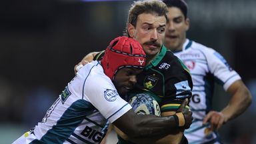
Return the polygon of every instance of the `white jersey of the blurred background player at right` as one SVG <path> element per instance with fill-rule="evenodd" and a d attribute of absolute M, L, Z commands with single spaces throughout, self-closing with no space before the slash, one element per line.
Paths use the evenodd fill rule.
<path fill-rule="evenodd" d="M 189 105 L 194 120 L 190 128 L 185 130 L 185 136 L 190 144 L 215 143 L 219 139 L 217 133 L 209 133 L 209 123 L 202 125 L 203 118 L 211 110 L 214 83 L 223 85 L 226 91 L 241 77 L 217 51 L 195 41 L 186 39 L 182 51 L 174 54 L 189 68 L 193 81 Z"/>

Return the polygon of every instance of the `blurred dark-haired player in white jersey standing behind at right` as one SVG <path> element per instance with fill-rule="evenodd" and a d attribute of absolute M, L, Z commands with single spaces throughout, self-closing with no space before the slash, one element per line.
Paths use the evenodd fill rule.
<path fill-rule="evenodd" d="M 217 130 L 249 107 L 251 94 L 241 77 L 217 51 L 186 39 L 189 19 L 185 1 L 163 2 L 169 10 L 165 46 L 183 60 L 193 79 L 190 107 L 195 119 L 185 136 L 189 143 L 220 143 Z M 227 107 L 220 112 L 211 109 L 215 82 L 232 95 Z"/>

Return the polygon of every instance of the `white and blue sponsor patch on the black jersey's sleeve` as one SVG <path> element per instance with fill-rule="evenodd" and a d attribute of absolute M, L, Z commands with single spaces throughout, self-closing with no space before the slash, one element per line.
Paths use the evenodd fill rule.
<path fill-rule="evenodd" d="M 189 93 L 191 93 L 191 88 L 189 87 L 188 81 L 181 81 L 179 83 L 175 83 L 174 85 L 176 88 L 177 98 L 181 99 L 190 96 Z"/>

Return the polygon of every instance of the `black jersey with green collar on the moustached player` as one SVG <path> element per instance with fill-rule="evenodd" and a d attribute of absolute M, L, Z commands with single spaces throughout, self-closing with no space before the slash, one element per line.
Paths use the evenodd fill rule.
<path fill-rule="evenodd" d="M 190 98 L 193 83 L 189 69 L 163 46 L 159 54 L 137 76 L 133 93 L 151 93 L 161 112 L 176 111 L 181 99 Z"/>

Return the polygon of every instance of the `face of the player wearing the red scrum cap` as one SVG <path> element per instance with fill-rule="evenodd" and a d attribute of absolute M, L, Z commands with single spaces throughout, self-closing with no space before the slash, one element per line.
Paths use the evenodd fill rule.
<path fill-rule="evenodd" d="M 136 76 L 142 71 L 142 69 L 133 67 L 124 67 L 117 71 L 113 83 L 121 97 L 124 97 L 128 91 L 133 89 L 135 83 L 137 83 Z"/>

